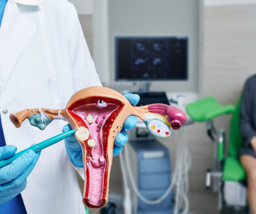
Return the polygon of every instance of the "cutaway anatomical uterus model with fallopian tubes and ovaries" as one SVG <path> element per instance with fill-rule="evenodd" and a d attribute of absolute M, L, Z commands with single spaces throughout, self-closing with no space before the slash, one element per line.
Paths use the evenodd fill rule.
<path fill-rule="evenodd" d="M 186 121 L 185 113 L 177 108 L 165 104 L 132 106 L 122 94 L 100 86 L 81 89 L 63 110 L 27 109 L 11 114 L 10 119 L 17 128 L 29 119 L 40 129 L 53 119 L 68 121 L 77 130 L 75 137 L 83 150 L 83 202 L 89 208 L 101 208 L 108 201 L 114 139 L 130 115 L 140 117 L 151 134 L 159 137 L 170 136 L 170 127 L 177 130 Z"/>

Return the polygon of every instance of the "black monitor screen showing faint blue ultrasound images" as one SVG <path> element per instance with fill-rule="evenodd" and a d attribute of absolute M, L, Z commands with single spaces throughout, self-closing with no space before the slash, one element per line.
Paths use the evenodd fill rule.
<path fill-rule="evenodd" d="M 116 37 L 116 80 L 187 80 L 187 37 Z"/>

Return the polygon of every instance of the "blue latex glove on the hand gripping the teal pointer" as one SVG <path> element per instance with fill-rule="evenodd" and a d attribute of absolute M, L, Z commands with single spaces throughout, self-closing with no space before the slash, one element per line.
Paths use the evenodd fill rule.
<path fill-rule="evenodd" d="M 0 160 L 12 157 L 17 148 L 12 145 L 0 147 Z M 26 188 L 27 176 L 31 173 L 40 156 L 28 150 L 9 165 L 0 169 L 0 204 L 11 200 Z"/>

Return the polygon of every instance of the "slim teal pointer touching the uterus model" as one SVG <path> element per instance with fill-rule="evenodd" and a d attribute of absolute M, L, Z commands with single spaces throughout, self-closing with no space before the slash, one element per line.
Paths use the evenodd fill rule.
<path fill-rule="evenodd" d="M 12 161 L 14 161 L 16 158 L 18 158 L 19 156 L 21 156 L 21 154 L 23 154 L 24 152 L 26 152 L 27 150 L 31 149 L 34 152 L 40 152 L 40 150 L 43 150 L 55 143 L 58 143 L 59 141 L 61 141 L 62 139 L 65 139 L 68 136 L 71 136 L 71 134 L 74 134 L 76 132 L 75 129 L 70 130 L 68 132 L 63 132 L 61 134 L 58 134 L 57 136 L 51 137 L 49 139 L 46 139 L 45 141 L 42 141 L 41 143 L 38 143 L 36 145 L 32 145 L 31 147 L 24 149 L 16 154 L 14 154 L 14 156 L 12 156 L 11 158 L 8 158 L 6 160 L 1 160 L 0 161 L 0 168 L 4 167 L 8 164 L 10 164 Z"/>

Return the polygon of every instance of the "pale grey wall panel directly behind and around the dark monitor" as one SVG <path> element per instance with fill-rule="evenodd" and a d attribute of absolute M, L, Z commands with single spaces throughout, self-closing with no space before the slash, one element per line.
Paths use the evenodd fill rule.
<path fill-rule="evenodd" d="M 188 36 L 188 80 L 155 81 L 151 90 L 191 93 L 200 90 L 202 1 L 94 0 L 94 3 L 94 62 L 106 86 L 119 91 L 134 90 L 133 82 L 115 81 L 115 36 Z"/>

